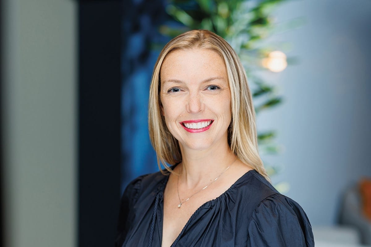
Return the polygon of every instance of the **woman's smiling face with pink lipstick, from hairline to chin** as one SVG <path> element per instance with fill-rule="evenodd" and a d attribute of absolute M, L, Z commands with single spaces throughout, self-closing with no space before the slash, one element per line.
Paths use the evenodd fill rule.
<path fill-rule="evenodd" d="M 226 66 L 207 49 L 175 50 L 160 70 L 161 112 L 181 148 L 228 145 L 232 119 Z"/>

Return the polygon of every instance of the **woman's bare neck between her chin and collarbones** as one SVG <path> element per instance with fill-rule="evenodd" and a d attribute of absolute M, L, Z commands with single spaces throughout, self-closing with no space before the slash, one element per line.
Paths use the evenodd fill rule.
<path fill-rule="evenodd" d="M 228 144 L 203 151 L 185 149 L 182 146 L 180 149 L 183 160 L 178 172 L 189 188 L 214 180 L 236 160 Z"/>

